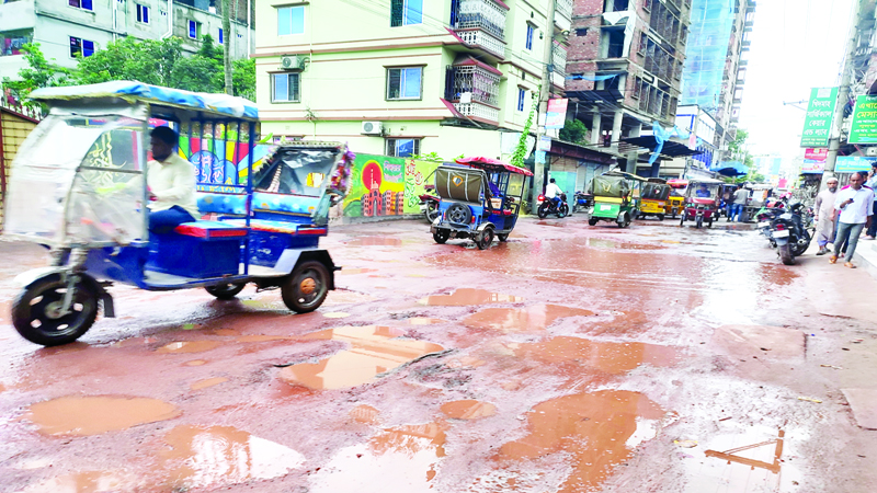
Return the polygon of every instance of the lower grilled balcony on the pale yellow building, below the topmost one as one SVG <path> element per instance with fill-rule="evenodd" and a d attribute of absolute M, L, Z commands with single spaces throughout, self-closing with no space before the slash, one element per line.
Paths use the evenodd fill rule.
<path fill-rule="evenodd" d="M 445 100 L 462 115 L 499 123 L 502 72 L 471 57 L 447 67 Z"/>

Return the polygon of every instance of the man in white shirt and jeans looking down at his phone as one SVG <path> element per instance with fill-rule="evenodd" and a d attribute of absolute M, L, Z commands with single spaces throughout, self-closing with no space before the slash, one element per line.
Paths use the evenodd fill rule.
<path fill-rule="evenodd" d="M 844 186 L 838 192 L 834 199 L 834 208 L 841 210 L 838 226 L 838 238 L 834 242 L 834 254 L 829 260 L 830 263 L 838 262 L 841 253 L 841 245 L 844 241 L 850 241 L 846 253 L 845 266 L 856 268 L 853 265 L 853 255 L 856 253 L 856 243 L 862 229 L 870 226 L 874 216 L 874 191 L 864 186 L 866 174 L 857 171 L 850 176 L 850 185 Z"/>

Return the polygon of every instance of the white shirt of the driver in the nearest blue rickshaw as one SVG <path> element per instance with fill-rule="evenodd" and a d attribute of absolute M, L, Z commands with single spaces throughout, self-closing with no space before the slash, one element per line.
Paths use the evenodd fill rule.
<path fill-rule="evenodd" d="M 153 213 L 167 210 L 179 205 L 193 217 L 198 217 L 198 206 L 195 200 L 195 167 L 172 153 L 164 161 L 151 160 L 147 163 L 146 183 L 156 200 L 149 203 Z"/>

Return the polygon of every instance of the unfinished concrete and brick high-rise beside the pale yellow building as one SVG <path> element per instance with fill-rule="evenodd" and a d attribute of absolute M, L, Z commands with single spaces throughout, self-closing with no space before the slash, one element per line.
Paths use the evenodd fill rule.
<path fill-rule="evenodd" d="M 590 142 L 626 158 L 625 138 L 654 122 L 672 126 L 682 80 L 691 0 L 576 0 L 566 93 Z M 648 174 L 648 172 L 646 172 Z"/>

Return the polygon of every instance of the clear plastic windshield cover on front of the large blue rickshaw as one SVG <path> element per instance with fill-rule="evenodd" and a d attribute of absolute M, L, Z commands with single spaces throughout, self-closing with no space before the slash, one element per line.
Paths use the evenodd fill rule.
<path fill-rule="evenodd" d="M 141 124 L 50 114 L 12 163 L 5 232 L 50 245 L 144 238 Z"/>

